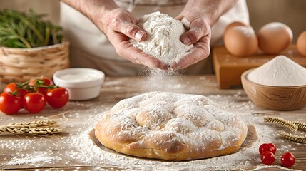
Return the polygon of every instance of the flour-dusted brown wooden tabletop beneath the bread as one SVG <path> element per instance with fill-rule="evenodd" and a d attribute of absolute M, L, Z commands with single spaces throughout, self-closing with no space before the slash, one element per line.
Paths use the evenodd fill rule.
<path fill-rule="evenodd" d="M 173 91 L 177 93 L 193 93 L 206 95 L 208 98 L 220 103 L 225 109 L 233 113 L 242 115 L 248 124 L 248 136 L 243 144 L 243 149 L 248 146 L 258 146 L 262 140 L 275 143 L 279 147 L 276 153 L 275 165 L 280 164 L 280 156 L 286 150 L 292 152 L 296 157 L 295 166 L 293 169 L 306 170 L 306 145 L 298 144 L 284 140 L 277 135 L 277 131 L 284 129 L 275 124 L 263 122 L 265 115 L 282 117 L 287 120 L 306 120 L 306 110 L 297 111 L 270 111 L 262 108 L 257 108 L 250 102 L 242 89 L 220 90 L 218 88 L 215 76 L 181 76 L 172 78 L 146 78 L 146 77 L 128 77 L 128 78 L 106 78 L 102 88 L 101 94 L 98 98 L 87 101 L 71 101 L 64 108 L 54 110 L 47 106 L 43 112 L 38 114 L 27 114 L 25 112 L 18 115 L 4 115 L 0 114 L 0 125 L 8 123 L 25 122 L 31 120 L 56 120 L 61 127 L 66 131 L 63 135 L 52 135 L 44 137 L 34 137 L 25 135 L 0 135 L 0 170 L 158 170 L 158 165 L 155 168 L 146 168 L 138 166 L 133 168 L 133 162 L 129 165 L 108 165 L 106 163 L 83 163 L 76 160 L 70 160 L 67 154 L 73 150 L 79 152 L 78 148 L 71 148 L 66 141 L 68 138 L 80 135 L 84 130 L 93 128 L 94 124 L 91 122 L 98 113 L 108 110 L 119 100 L 129 98 L 139 93 L 145 93 L 151 90 Z M 251 118 L 251 119 L 249 119 Z M 264 130 L 262 130 L 264 129 Z M 258 131 L 266 134 L 259 134 Z M 256 133 L 258 132 L 258 133 Z M 275 133 L 274 133 L 275 132 Z M 269 135 L 272 133 L 271 135 Z M 305 133 L 305 132 L 303 132 Z M 260 143 L 259 143 L 260 142 Z M 260 155 L 257 152 L 257 146 L 253 147 L 255 150 L 250 150 L 248 157 L 233 162 L 225 162 L 225 165 L 219 166 L 218 160 L 215 167 L 206 167 L 203 165 L 201 170 L 282 170 L 281 167 L 275 166 L 266 168 L 260 161 Z M 247 149 L 248 150 L 248 149 Z M 233 156 L 240 154 L 240 151 Z M 49 158 L 48 158 L 49 157 Z M 126 157 L 126 160 L 133 160 L 134 157 Z M 230 159 L 229 155 L 227 159 Z M 50 161 L 52 159 L 52 161 Z M 113 162 L 116 163 L 116 159 Z M 144 160 L 144 159 L 138 159 Z M 152 160 L 155 161 L 155 160 Z M 147 160 L 149 163 L 150 160 Z M 173 165 L 172 170 L 198 170 L 193 167 L 193 163 L 201 163 L 205 160 L 196 160 L 188 162 L 164 162 L 158 161 L 160 165 Z M 126 162 L 128 163 L 128 162 Z M 181 167 L 180 165 L 188 165 L 188 167 Z M 240 167 L 238 167 L 241 165 Z M 177 166 L 177 167 L 175 167 Z M 258 167 L 259 166 L 259 167 Z M 141 168 L 141 169 L 140 169 Z"/>

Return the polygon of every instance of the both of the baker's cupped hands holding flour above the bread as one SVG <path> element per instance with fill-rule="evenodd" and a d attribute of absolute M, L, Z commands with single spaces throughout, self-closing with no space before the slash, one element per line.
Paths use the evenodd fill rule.
<path fill-rule="evenodd" d="M 113 9 L 103 21 L 99 22 L 98 27 L 106 34 L 108 40 L 113 44 L 119 56 L 127 58 L 132 63 L 142 64 L 149 68 L 160 68 L 162 70 L 182 69 L 197 63 L 209 56 L 210 53 L 210 23 L 201 11 L 182 11 L 175 19 L 187 19 L 190 22 L 188 31 L 180 36 L 186 46 L 193 44 L 187 56 L 183 57 L 178 63 L 173 62 L 170 66 L 138 48 L 134 48 L 129 39 L 136 41 L 146 40 L 146 31 L 136 25 L 137 19 L 124 9 Z"/>

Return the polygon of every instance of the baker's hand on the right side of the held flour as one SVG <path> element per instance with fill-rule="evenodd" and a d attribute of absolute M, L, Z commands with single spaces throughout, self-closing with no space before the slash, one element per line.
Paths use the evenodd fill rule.
<path fill-rule="evenodd" d="M 190 53 L 187 56 L 171 63 L 170 68 L 173 69 L 187 68 L 207 58 L 210 54 L 210 21 L 204 14 L 203 9 L 184 10 L 175 17 L 175 19 L 181 21 L 184 18 L 190 22 L 190 28 L 180 36 L 180 41 L 186 46 L 193 44 L 193 48 L 190 49 Z"/>

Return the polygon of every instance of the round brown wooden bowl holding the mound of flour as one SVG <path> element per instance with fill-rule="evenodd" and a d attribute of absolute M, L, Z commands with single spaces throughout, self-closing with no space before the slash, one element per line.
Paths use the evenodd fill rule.
<path fill-rule="evenodd" d="M 299 110 L 306 105 L 306 85 L 265 86 L 248 81 L 250 69 L 241 75 L 243 89 L 255 105 L 269 110 Z"/>

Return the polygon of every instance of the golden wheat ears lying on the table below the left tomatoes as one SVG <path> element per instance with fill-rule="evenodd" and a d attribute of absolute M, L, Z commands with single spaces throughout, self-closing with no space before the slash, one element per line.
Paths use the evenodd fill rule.
<path fill-rule="evenodd" d="M 34 120 L 24 123 L 10 123 L 0 126 L 0 134 L 31 134 L 31 135 L 53 135 L 63 133 L 63 130 L 53 120 Z"/>

